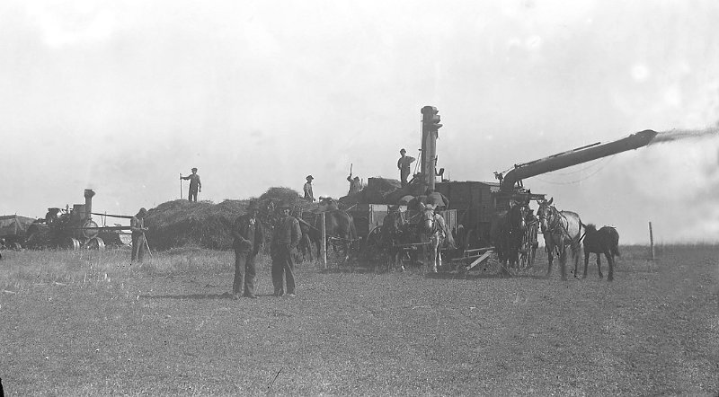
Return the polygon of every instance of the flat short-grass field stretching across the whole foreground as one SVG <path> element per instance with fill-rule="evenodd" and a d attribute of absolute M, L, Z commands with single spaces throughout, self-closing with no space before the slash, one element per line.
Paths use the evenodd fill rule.
<path fill-rule="evenodd" d="M 621 247 L 615 281 L 297 269 L 233 254 L 4 251 L 7 395 L 717 395 L 719 247 Z M 537 276 L 546 257 L 537 258 Z M 606 263 L 605 263 L 606 266 Z M 603 270 L 605 276 L 607 270 Z"/>

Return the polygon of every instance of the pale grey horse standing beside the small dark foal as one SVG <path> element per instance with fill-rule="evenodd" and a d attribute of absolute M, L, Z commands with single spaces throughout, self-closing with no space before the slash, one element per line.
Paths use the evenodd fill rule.
<path fill-rule="evenodd" d="M 559 254 L 559 263 L 562 266 L 562 279 L 566 280 L 567 246 L 572 250 L 574 261 L 574 277 L 577 277 L 577 266 L 579 265 L 579 251 L 581 250 L 581 219 L 577 213 L 572 211 L 559 211 L 552 202 L 541 201 L 537 209 L 539 223 L 542 227 L 542 234 L 545 236 L 545 248 L 549 265 L 546 269 L 546 277 L 552 271 L 552 260 L 555 253 Z"/>

